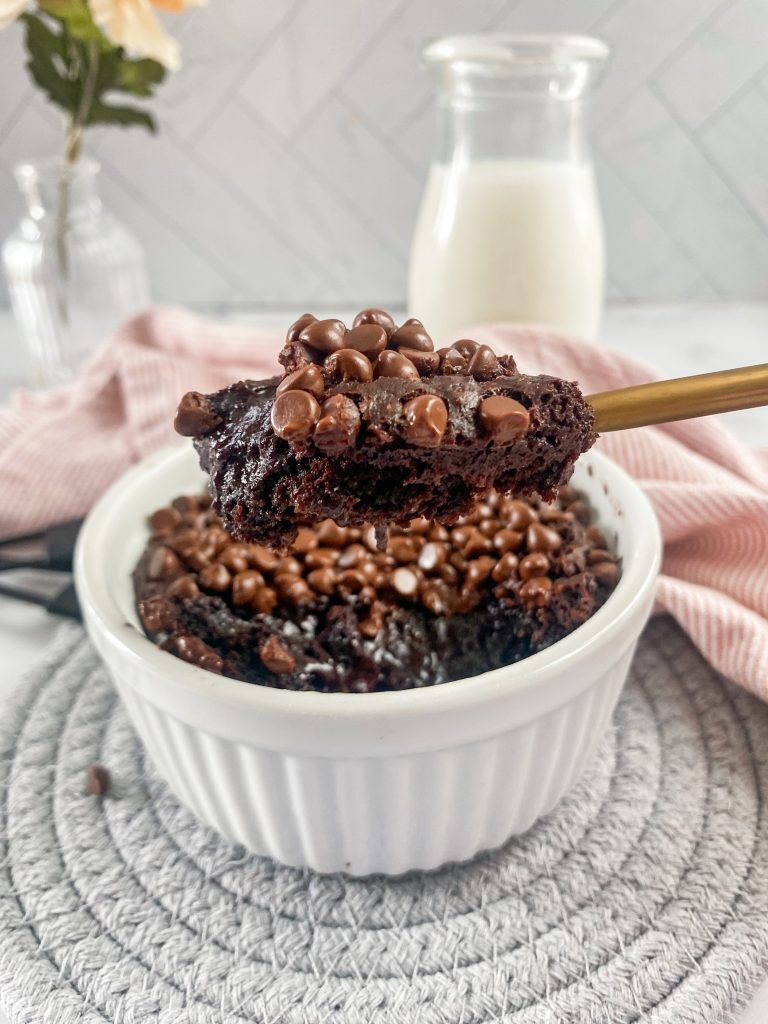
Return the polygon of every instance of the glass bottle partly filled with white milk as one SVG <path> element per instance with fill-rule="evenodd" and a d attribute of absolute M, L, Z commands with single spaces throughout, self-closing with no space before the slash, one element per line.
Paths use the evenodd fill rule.
<path fill-rule="evenodd" d="M 513 321 L 595 339 L 603 231 L 585 129 L 608 56 L 582 36 L 457 36 L 424 51 L 438 138 L 409 307 L 437 339 Z"/>

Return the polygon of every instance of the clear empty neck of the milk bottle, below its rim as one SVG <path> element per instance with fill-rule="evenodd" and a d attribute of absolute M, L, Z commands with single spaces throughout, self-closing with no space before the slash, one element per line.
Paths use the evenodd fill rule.
<path fill-rule="evenodd" d="M 591 160 L 583 96 L 476 96 L 442 92 L 437 103 L 437 160 Z"/>

